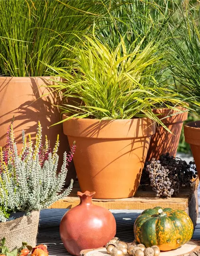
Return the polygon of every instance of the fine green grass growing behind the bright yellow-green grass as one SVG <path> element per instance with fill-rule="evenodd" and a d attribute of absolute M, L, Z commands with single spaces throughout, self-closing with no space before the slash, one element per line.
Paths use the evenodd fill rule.
<path fill-rule="evenodd" d="M 166 29 L 168 29 L 169 22 L 178 18 L 176 14 L 181 1 L 130 0 L 127 3 L 122 0 L 120 2 L 124 3 L 116 9 L 108 10 L 103 19 L 96 21 L 97 37 L 110 47 L 116 47 L 121 38 L 124 38 L 126 49 L 129 51 L 133 50 L 131 49 L 132 42 L 143 38 L 142 48 L 149 43 L 156 44 L 158 54 L 164 56 Z M 154 72 L 154 78 L 163 88 L 168 88 L 173 82 L 167 66 L 164 65 Z M 160 102 L 157 106 L 163 107 L 164 105 Z"/>

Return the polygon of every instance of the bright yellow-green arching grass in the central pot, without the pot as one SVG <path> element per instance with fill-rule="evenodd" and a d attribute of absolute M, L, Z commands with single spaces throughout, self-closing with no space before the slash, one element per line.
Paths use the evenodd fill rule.
<path fill-rule="evenodd" d="M 144 48 L 145 37 L 126 50 L 124 38 L 116 48 L 93 36 L 85 36 L 75 46 L 63 46 L 77 56 L 66 58 L 65 68 L 52 68 L 65 79 L 52 87 L 62 91 L 63 113 L 77 118 L 131 119 L 148 117 L 159 123 L 152 108 L 182 105 L 178 95 L 159 86 L 156 76 L 164 60 L 158 44 Z"/>

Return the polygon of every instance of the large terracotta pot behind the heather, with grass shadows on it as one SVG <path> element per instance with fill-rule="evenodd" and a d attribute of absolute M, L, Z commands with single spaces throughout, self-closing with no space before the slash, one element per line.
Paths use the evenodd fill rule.
<path fill-rule="evenodd" d="M 56 142 L 57 134 L 60 135 L 60 164 L 62 155 L 68 149 L 68 141 L 62 131 L 62 124 L 49 127 L 60 121 L 60 111 L 54 105 L 58 105 L 60 99 L 52 91 L 48 84 L 52 84 L 50 77 L 3 77 L 0 76 L 0 146 L 6 146 L 6 134 L 8 126 L 15 116 L 14 133 L 18 150 L 22 147 L 22 130 L 35 138 L 35 133 L 40 120 L 43 134 L 51 140 L 52 147 Z M 43 94 L 48 94 L 40 98 Z M 53 105 L 54 104 L 54 105 Z M 45 139 L 45 136 L 44 138 Z M 71 175 L 70 175 L 71 174 Z M 67 183 L 76 174 L 73 168 L 68 172 Z"/>

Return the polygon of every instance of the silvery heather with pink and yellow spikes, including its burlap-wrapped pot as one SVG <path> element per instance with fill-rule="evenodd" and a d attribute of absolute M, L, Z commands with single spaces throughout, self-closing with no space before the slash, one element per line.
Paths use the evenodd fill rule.
<path fill-rule="evenodd" d="M 64 153 L 62 168 L 57 172 L 58 138 L 53 150 L 47 137 L 42 145 L 39 122 L 35 144 L 30 135 L 27 138 L 22 132 L 23 148 L 18 154 L 13 123 L 8 128 L 7 146 L 0 147 L 0 240 L 5 237 L 10 250 L 19 248 L 22 241 L 34 247 L 40 210 L 72 190 L 73 180 L 66 190 L 62 188 L 75 146 L 70 154 Z"/>

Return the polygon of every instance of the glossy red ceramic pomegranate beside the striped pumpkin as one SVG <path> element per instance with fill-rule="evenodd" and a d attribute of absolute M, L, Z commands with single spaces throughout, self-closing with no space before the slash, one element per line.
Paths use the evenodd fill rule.
<path fill-rule="evenodd" d="M 80 204 L 66 212 L 60 222 L 62 242 L 72 255 L 102 247 L 116 234 L 114 216 L 106 208 L 92 204 L 94 194 L 77 192 Z"/>

